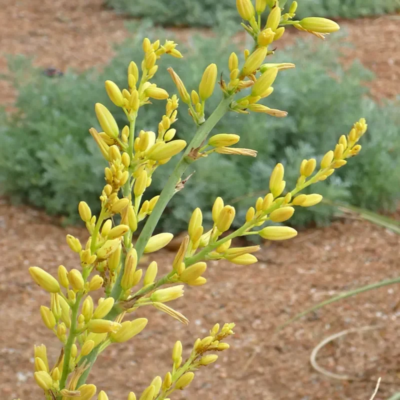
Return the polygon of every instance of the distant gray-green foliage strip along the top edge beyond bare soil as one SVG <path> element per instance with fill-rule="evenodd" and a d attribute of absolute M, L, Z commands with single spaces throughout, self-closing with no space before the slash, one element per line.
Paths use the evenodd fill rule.
<path fill-rule="evenodd" d="M 165 26 L 214 26 L 224 20 L 240 20 L 234 0 L 106 0 L 106 4 L 119 12 L 148 17 Z M 297 17 L 356 18 L 398 9 L 398 0 L 299 0 Z"/>

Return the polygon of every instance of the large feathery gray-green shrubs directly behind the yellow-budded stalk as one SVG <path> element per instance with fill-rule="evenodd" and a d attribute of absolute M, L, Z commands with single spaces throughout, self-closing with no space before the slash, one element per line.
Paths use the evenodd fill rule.
<path fill-rule="evenodd" d="M 103 82 L 111 79 L 124 87 L 128 62 L 131 58 L 140 62 L 142 37 L 139 31 L 124 43 L 101 72 L 68 71 L 63 77 L 51 79 L 23 58 L 12 60 L 10 69 L 14 71 L 19 93 L 16 101 L 19 111 L 0 116 L 3 191 L 50 213 L 65 214 L 70 220 L 77 217 L 80 200 L 86 200 L 93 211 L 98 209 L 104 161 L 87 129 L 99 128 L 93 110 L 95 102 L 104 103 L 115 112 L 120 128 L 126 123 L 123 113 L 107 98 Z M 167 66 L 174 68 L 189 90 L 197 88 L 202 71 L 210 62 L 216 62 L 218 71 L 227 76 L 227 58 L 235 49 L 227 36 L 226 39 L 221 35 L 218 39 L 192 38 L 189 42 L 190 48 L 180 48 L 187 57 L 161 60 L 156 83 L 170 94 L 176 90 L 165 70 Z M 311 186 L 309 192 L 369 209 L 395 204 L 400 195 L 399 120 L 394 104 L 378 105 L 367 96 L 361 82 L 371 74 L 358 63 L 344 72 L 336 61 L 337 49 L 328 42 L 321 42 L 315 49 L 306 41 L 297 41 L 271 60 L 296 64 L 295 69 L 279 72 L 274 92 L 265 100 L 268 106 L 287 110 L 289 116 L 226 115 L 213 133 L 240 134 L 239 145 L 258 150 L 258 156 L 212 154 L 196 161 L 191 169 L 194 174 L 173 197 L 159 228 L 168 231 L 184 228 L 196 206 L 206 211 L 218 195 L 226 202 L 244 196 L 234 204 L 240 210 L 239 219 L 244 217 L 246 206 L 254 202 L 254 196 L 245 196 L 267 190 L 269 174 L 276 162 L 284 164 L 286 187 L 292 187 L 301 160 L 311 156 L 320 159 L 361 116 L 368 122 L 361 153 L 331 178 Z M 214 108 L 220 96 L 219 90 L 215 90 L 207 101 L 208 110 Z M 164 106 L 164 101 L 154 100 L 153 105 L 144 107 L 139 113 L 137 129 L 156 131 Z M 189 140 L 194 125 L 183 103 L 178 118 L 177 137 Z M 172 159 L 157 169 L 148 196 L 159 194 L 175 162 Z M 329 207 L 320 205 L 299 210 L 292 222 L 325 223 L 330 216 Z M 205 219 L 210 220 L 209 213 L 205 212 Z"/>

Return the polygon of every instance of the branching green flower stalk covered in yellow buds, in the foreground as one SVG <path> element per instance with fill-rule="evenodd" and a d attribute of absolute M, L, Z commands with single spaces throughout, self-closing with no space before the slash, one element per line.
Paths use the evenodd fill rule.
<path fill-rule="evenodd" d="M 48 364 L 44 344 L 34 348 L 34 378 L 43 389 L 46 400 L 93 398 L 97 389 L 86 383 L 93 363 L 108 346 L 127 342 L 146 327 L 146 318 L 135 317 L 139 307 L 154 307 L 167 317 L 187 324 L 187 318 L 169 304 L 183 295 L 185 285 L 206 283 L 207 261 L 226 259 L 238 265 L 256 262 L 254 253 L 259 246 L 235 247 L 232 239 L 238 236 L 259 235 L 267 240 L 285 240 L 295 236 L 296 230 L 289 226 L 262 226 L 267 221 L 284 222 L 293 215 L 295 207 L 308 207 L 321 201 L 321 195 L 302 194 L 301 190 L 326 179 L 359 152 L 358 140 L 366 130 L 362 118 L 347 136 L 340 136 L 334 150 L 324 155 L 318 167 L 313 158 L 301 162 L 295 187 L 285 187 L 283 166 L 278 163 L 270 176 L 269 192 L 248 208 L 238 229 L 230 229 L 235 208 L 224 204 L 220 197 L 215 199 L 211 210 L 212 226 L 204 227 L 202 211 L 194 209 L 188 223 L 188 234 L 182 239 L 169 272 L 159 275 L 157 262 L 151 260 L 151 253 L 167 245 L 173 235 L 169 232 L 153 235 L 153 231 L 171 197 L 184 190 L 188 177 L 182 179 L 182 176 L 186 168 L 197 159 L 213 156 L 215 152 L 225 156 L 255 157 L 257 154 L 254 149 L 236 146 L 240 139 L 238 134 L 215 132 L 209 135 L 215 124 L 229 111 L 261 112 L 274 117 L 287 114 L 259 102 L 273 93 L 272 85 L 277 75 L 294 67 L 290 62 L 265 62 L 265 58 L 274 53 L 271 49 L 274 41 L 282 36 L 286 25 L 294 25 L 318 37 L 339 28 L 335 22 L 325 18 L 293 20 L 296 1 L 291 3 L 288 12 L 284 12 L 284 3 L 284 0 L 279 3 L 256 0 L 254 7 L 250 0 L 236 0 L 237 10 L 244 20 L 242 26 L 254 39 L 254 46 L 252 50 L 244 51 L 242 64 L 235 53 L 230 54 L 226 60 L 228 74 L 218 72 L 212 63 L 205 68 L 197 90 L 189 88 L 189 93 L 176 72 L 168 68 L 180 100 L 187 105 L 196 125 L 188 144 L 174 139 L 179 105 L 177 95 L 169 95 L 151 82 L 160 57 L 182 57 L 176 43 L 167 40 L 161 44 L 159 40 L 150 42 L 145 38 L 141 63 L 137 65 L 131 61 L 127 67 L 126 87 L 121 89 L 110 80 L 105 82 L 110 100 L 122 108 L 127 124 L 118 126 L 105 105 L 95 104 L 94 111 L 102 131 L 94 128 L 89 131 L 108 166 L 104 170 L 105 184 L 99 196 L 99 215 L 92 215 L 84 201 L 78 205 L 79 215 L 89 232 L 88 240 L 80 243 L 77 238 L 66 236 L 80 267 L 67 270 L 60 265 L 57 277 L 37 266 L 29 268 L 33 280 L 50 295 L 50 306 L 40 307 L 42 320 L 61 342 L 59 356 L 53 365 Z M 267 17 L 262 22 L 266 11 Z M 224 80 L 223 76 L 228 78 Z M 210 113 L 206 107 L 207 99 L 215 91 L 217 78 L 221 101 Z M 165 114 L 160 117 L 157 132 L 141 129 L 137 120 L 139 112 L 153 100 L 165 101 Z M 181 151 L 183 154 L 161 193 L 143 201 L 153 172 Z M 116 220 L 120 223 L 116 224 Z M 140 222 L 144 222 L 144 226 L 137 241 L 133 242 L 132 235 Z M 150 257 L 144 273 L 137 268 L 143 254 Z M 91 295 L 98 290 L 103 295 L 95 304 Z M 166 399 L 175 390 L 184 389 L 192 381 L 197 368 L 214 362 L 217 358 L 215 352 L 229 347 L 223 340 L 233 333 L 233 326 L 225 324 L 219 329 L 216 324 L 207 337 L 196 340 L 186 360 L 182 358 L 182 345 L 177 341 L 173 347 L 171 370 L 163 379 L 156 376 L 142 392 L 140 400 Z M 135 398 L 133 391 L 127 394 L 128 400 Z M 108 397 L 100 391 L 97 399 L 107 400 Z"/>

